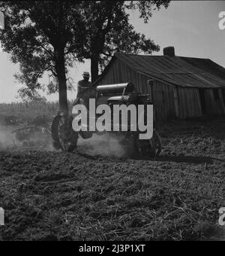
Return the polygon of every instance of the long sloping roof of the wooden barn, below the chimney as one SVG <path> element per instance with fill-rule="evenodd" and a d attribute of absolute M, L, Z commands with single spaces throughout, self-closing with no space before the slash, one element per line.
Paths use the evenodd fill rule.
<path fill-rule="evenodd" d="M 107 73 L 115 59 L 124 62 L 133 71 L 169 84 L 181 87 L 225 88 L 225 69 L 210 59 L 115 53 L 101 77 Z"/>

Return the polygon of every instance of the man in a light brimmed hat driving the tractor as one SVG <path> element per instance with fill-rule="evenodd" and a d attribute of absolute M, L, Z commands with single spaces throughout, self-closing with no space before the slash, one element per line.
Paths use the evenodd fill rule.
<path fill-rule="evenodd" d="M 92 87 L 89 78 L 89 72 L 83 72 L 83 80 L 79 81 L 77 84 L 77 99 L 74 105 L 80 102 L 86 105 L 86 108 L 89 108 L 89 99 L 95 99 L 95 88 Z"/>

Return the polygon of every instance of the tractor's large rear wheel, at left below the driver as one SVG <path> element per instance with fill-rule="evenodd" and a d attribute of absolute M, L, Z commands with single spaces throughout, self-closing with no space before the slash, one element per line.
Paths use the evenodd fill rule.
<path fill-rule="evenodd" d="M 72 118 L 58 115 L 52 122 L 52 140 L 55 149 L 73 152 L 77 148 L 78 133 L 72 129 Z"/>

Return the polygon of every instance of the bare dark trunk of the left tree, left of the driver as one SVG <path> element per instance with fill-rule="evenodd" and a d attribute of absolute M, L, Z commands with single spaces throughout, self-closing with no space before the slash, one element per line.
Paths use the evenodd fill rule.
<path fill-rule="evenodd" d="M 68 114 L 68 88 L 65 74 L 65 55 L 64 49 L 57 50 L 55 58 L 56 74 L 59 87 L 59 110 Z"/>

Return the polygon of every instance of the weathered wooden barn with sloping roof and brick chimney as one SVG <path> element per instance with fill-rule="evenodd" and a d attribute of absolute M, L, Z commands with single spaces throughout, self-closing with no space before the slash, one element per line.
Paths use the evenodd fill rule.
<path fill-rule="evenodd" d="M 210 59 L 115 53 L 95 86 L 132 82 L 139 93 L 151 94 L 154 80 L 155 120 L 225 115 L 225 69 Z"/>

